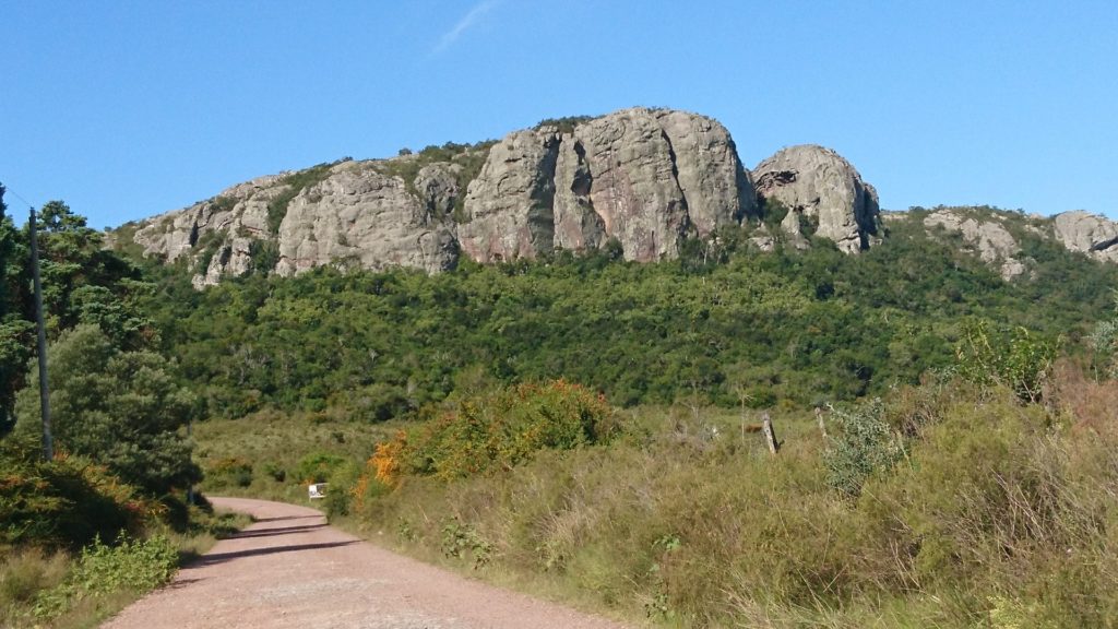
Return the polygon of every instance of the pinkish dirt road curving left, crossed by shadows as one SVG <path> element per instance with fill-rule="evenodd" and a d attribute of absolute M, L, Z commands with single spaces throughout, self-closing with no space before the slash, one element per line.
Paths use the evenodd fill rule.
<path fill-rule="evenodd" d="M 586 628 L 620 625 L 463 579 L 326 526 L 305 507 L 212 498 L 257 522 L 110 629 Z"/>

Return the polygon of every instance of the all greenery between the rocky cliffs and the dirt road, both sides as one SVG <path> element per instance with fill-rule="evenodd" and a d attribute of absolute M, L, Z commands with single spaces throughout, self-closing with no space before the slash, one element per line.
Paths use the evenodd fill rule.
<path fill-rule="evenodd" d="M 653 264 L 606 246 L 199 291 L 190 262 L 106 248 L 51 201 L 44 461 L 30 231 L 8 209 L 0 187 L 11 626 L 165 582 L 236 525 L 205 492 L 314 481 L 341 526 L 643 622 L 1118 622 L 1118 266 L 1020 213 L 968 210 L 1022 243 L 1012 281 L 911 208 L 860 255 L 762 253 L 747 224 Z M 91 571 L 140 576 L 98 592 Z"/>

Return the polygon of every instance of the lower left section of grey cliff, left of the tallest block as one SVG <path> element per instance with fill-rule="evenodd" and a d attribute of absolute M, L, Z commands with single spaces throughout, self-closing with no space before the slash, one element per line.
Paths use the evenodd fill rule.
<path fill-rule="evenodd" d="M 183 255 L 200 257 L 206 266 L 193 278 L 196 288 L 253 270 L 254 242 L 277 247 L 274 271 L 281 275 L 325 264 L 409 266 L 432 273 L 454 266 L 455 166 L 421 169 L 417 197 L 401 178 L 380 173 L 376 163 L 345 161 L 331 167 L 322 181 L 287 201 L 274 234 L 268 206 L 293 191 L 286 173 L 254 179 L 157 216 L 136 231 L 134 241 L 145 255 L 169 262 Z"/>

